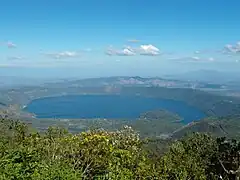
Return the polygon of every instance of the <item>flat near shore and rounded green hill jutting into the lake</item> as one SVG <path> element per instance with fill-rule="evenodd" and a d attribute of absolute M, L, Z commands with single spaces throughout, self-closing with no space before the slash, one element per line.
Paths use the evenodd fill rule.
<path fill-rule="evenodd" d="M 15 118 L 15 117 L 12 117 Z M 121 129 L 124 125 L 131 126 L 141 137 L 162 137 L 178 130 L 184 124 L 182 118 L 166 110 L 154 110 L 140 114 L 137 119 L 34 119 L 22 118 L 40 131 L 49 126 L 60 126 L 71 133 L 87 131 L 91 128 L 103 128 L 108 131 Z"/>

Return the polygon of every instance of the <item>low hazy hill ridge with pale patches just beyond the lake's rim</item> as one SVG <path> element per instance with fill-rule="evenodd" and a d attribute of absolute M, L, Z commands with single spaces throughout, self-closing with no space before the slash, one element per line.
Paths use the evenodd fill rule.
<path fill-rule="evenodd" d="M 202 83 L 196 81 L 184 81 L 175 79 L 164 79 L 159 77 L 143 78 L 139 76 L 117 76 L 117 77 L 102 77 L 89 78 L 80 80 L 64 80 L 55 83 L 46 83 L 45 87 L 54 88 L 76 88 L 76 87 L 120 87 L 120 86 L 134 86 L 134 87 L 168 87 L 168 88 L 210 88 L 223 89 L 223 84 Z"/>

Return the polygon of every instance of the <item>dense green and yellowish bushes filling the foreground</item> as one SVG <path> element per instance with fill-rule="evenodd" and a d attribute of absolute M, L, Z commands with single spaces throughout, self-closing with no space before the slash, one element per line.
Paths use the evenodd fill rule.
<path fill-rule="evenodd" d="M 214 180 L 238 176 L 240 144 L 236 140 L 194 133 L 166 144 L 164 150 L 158 148 L 161 141 L 143 140 L 129 126 L 79 134 L 50 127 L 40 134 L 4 117 L 0 179 Z"/>

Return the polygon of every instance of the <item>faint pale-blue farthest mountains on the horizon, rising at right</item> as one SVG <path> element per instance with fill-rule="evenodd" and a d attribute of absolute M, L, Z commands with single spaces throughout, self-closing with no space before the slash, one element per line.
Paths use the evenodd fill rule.
<path fill-rule="evenodd" d="M 135 82 L 137 81 L 149 81 L 153 79 L 157 80 L 168 80 L 168 81 L 192 81 L 192 82 L 202 82 L 202 83 L 217 83 L 217 84 L 239 84 L 240 83 L 240 73 L 237 72 L 227 72 L 227 71 L 216 71 L 216 70 L 198 70 L 189 71 L 186 73 L 171 73 L 169 75 L 151 78 L 142 78 L 139 76 L 117 76 L 117 77 L 99 77 L 99 78 L 87 78 L 80 79 L 81 82 L 85 81 L 87 83 L 99 83 L 100 81 L 115 81 L 116 79 L 126 79 L 133 78 Z M 43 83 L 57 83 L 57 82 L 70 82 L 78 81 L 79 78 L 32 78 L 32 77 L 18 77 L 18 76 L 0 76 L 0 88 L 2 87 L 16 87 L 16 86 L 32 86 L 40 85 Z"/>

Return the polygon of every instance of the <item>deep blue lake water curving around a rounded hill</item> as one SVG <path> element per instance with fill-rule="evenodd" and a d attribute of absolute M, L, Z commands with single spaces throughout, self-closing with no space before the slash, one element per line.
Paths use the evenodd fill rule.
<path fill-rule="evenodd" d="M 69 95 L 32 101 L 25 110 L 38 118 L 138 118 L 141 113 L 165 109 L 184 118 L 185 123 L 205 114 L 184 102 L 118 95 Z"/>

